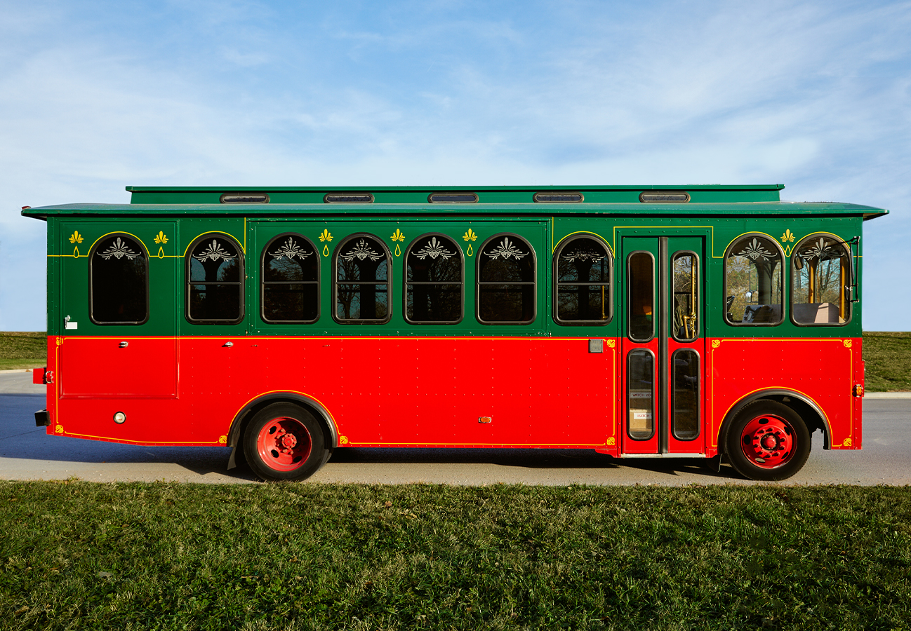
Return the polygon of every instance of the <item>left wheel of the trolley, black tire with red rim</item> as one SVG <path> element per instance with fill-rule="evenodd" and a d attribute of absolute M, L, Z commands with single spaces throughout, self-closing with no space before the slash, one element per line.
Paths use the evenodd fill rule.
<path fill-rule="evenodd" d="M 247 424 L 243 454 L 263 480 L 305 480 L 329 460 L 322 423 L 293 403 L 272 403 Z"/>

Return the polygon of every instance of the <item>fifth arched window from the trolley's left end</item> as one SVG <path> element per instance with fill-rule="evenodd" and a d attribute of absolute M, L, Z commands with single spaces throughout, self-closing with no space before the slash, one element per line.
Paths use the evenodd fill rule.
<path fill-rule="evenodd" d="M 462 250 L 443 235 L 425 235 L 405 254 L 405 319 L 462 320 Z"/>

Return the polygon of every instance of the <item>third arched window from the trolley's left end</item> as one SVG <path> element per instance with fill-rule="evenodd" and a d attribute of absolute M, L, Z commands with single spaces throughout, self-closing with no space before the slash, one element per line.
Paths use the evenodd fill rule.
<path fill-rule="evenodd" d="M 262 319 L 312 322 L 319 316 L 320 257 L 299 234 L 281 235 L 262 249 Z"/>

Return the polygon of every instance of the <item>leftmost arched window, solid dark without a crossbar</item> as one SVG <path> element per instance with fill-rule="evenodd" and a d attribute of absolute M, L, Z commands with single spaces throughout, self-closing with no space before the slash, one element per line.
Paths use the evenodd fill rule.
<path fill-rule="evenodd" d="M 88 255 L 88 267 L 93 322 L 148 321 L 148 256 L 138 239 L 123 233 L 98 239 Z"/>

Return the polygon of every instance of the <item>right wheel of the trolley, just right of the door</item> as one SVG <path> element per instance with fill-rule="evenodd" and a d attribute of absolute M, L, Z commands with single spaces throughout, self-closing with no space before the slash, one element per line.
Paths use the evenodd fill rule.
<path fill-rule="evenodd" d="M 755 401 L 734 417 L 725 439 L 728 460 L 751 480 L 786 480 L 810 457 L 804 419 L 783 403 Z"/>

